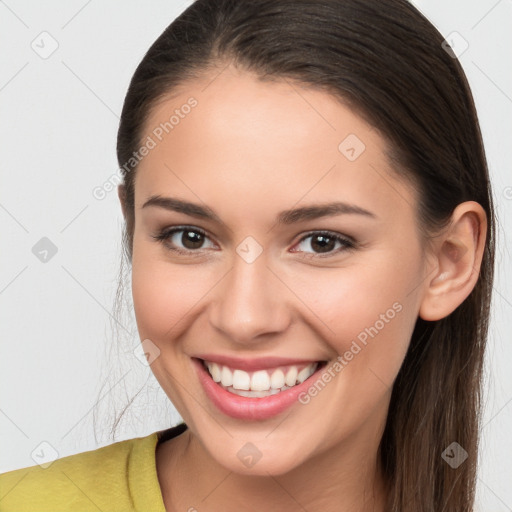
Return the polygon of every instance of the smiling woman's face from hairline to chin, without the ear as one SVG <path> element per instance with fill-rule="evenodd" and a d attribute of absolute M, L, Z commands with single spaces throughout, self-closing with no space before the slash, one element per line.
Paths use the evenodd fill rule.
<path fill-rule="evenodd" d="M 377 131 L 325 92 L 232 67 L 181 91 L 152 112 L 135 180 L 133 299 L 152 371 L 231 471 L 375 458 L 427 274 L 414 191 Z M 269 398 L 229 387 L 269 383 Z"/>

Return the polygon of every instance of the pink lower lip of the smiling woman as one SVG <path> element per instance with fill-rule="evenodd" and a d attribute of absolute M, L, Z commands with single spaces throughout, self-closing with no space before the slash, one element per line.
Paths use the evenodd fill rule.
<path fill-rule="evenodd" d="M 325 363 L 321 364 L 316 372 L 304 382 L 293 386 L 293 388 L 281 391 L 276 395 L 262 398 L 247 398 L 226 391 L 212 379 L 201 360 L 192 358 L 192 361 L 197 369 L 203 389 L 210 400 L 224 414 L 241 420 L 266 420 L 282 413 L 298 402 L 299 395 L 311 386 L 311 382 L 325 368 Z"/>

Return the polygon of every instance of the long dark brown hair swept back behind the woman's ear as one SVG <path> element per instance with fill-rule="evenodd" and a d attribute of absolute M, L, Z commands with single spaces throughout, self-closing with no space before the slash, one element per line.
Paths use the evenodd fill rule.
<path fill-rule="evenodd" d="M 494 210 L 473 98 L 436 28 L 405 0 L 196 0 L 155 41 L 131 80 L 117 156 L 131 261 L 133 169 L 152 107 L 205 71 L 232 62 L 262 79 L 328 91 L 373 125 L 419 193 L 428 237 L 461 202 L 482 205 L 487 241 L 468 298 L 436 322 L 418 318 L 394 382 L 379 456 L 394 512 L 473 508 L 481 386 L 494 264 Z M 468 459 L 441 457 L 456 441 Z"/>

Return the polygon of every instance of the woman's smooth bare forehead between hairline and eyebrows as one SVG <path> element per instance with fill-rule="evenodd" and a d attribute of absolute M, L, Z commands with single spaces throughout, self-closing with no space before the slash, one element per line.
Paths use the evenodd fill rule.
<path fill-rule="evenodd" d="M 414 213 L 414 191 L 390 169 L 379 133 L 334 96 L 290 81 L 232 67 L 208 74 L 154 107 L 148 137 L 136 207 L 160 194 L 226 215 L 331 200 Z"/>

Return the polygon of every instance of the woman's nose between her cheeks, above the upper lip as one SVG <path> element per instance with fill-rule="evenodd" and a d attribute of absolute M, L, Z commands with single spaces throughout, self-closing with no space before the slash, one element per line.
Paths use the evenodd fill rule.
<path fill-rule="evenodd" d="M 216 288 L 210 305 L 210 324 L 233 343 L 251 345 L 274 339 L 291 321 L 292 295 L 263 252 L 252 263 L 238 254 L 233 267 Z M 267 335 L 267 336 L 265 336 Z"/>

